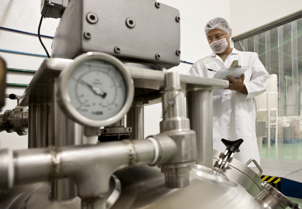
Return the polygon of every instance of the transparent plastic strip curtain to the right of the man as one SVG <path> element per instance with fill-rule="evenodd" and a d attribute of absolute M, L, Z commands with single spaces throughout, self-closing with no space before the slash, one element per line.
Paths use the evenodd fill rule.
<path fill-rule="evenodd" d="M 234 48 L 256 52 L 271 78 L 255 97 L 260 158 L 302 160 L 302 19 L 236 41 Z"/>

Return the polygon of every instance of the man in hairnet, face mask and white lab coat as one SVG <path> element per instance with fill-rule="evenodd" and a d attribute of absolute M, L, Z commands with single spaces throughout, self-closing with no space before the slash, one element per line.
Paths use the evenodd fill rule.
<path fill-rule="evenodd" d="M 238 65 L 250 68 L 238 79 L 228 76 L 229 87 L 213 91 L 213 149 L 223 152 L 226 146 L 221 139 L 243 139 L 235 159 L 246 163 L 254 158 L 260 164 L 256 138 L 256 112 L 253 97 L 266 91 L 269 74 L 257 53 L 237 51 L 230 47 L 232 30 L 227 20 L 211 19 L 205 26 L 213 54 L 195 62 L 188 75 L 213 78 L 214 71 L 230 67 L 234 60 Z M 254 163 L 249 165 L 255 166 Z"/>

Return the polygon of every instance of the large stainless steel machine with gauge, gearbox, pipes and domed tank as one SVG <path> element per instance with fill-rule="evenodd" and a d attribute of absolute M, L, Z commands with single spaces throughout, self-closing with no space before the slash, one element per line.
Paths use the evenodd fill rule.
<path fill-rule="evenodd" d="M 61 20 L 52 58 L 0 115 L 0 131 L 28 133 L 28 150 L 0 149 L 1 208 L 300 208 L 253 159 L 233 159 L 240 143 L 212 149 L 212 91 L 228 82 L 167 72 L 180 62 L 177 9 L 42 0 L 41 13 Z M 160 134 L 144 139 L 144 106 L 159 102 Z"/>

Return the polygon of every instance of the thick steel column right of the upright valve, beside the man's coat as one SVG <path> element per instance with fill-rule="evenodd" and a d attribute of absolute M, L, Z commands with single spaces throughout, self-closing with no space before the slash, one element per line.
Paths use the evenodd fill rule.
<path fill-rule="evenodd" d="M 197 161 L 199 165 L 213 167 L 213 100 L 212 90 L 198 89 L 186 93 L 187 117 L 190 128 L 196 132 Z"/>

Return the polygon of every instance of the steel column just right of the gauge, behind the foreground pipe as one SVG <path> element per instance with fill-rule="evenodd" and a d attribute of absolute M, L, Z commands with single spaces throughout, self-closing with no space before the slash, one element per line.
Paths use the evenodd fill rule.
<path fill-rule="evenodd" d="M 144 106 L 133 105 L 127 113 L 127 127 L 132 128 L 131 139 L 144 137 Z"/>

